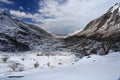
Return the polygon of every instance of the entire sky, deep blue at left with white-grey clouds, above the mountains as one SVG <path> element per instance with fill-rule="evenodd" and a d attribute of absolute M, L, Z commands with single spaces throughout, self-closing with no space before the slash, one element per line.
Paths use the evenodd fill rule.
<path fill-rule="evenodd" d="M 0 10 L 46 31 L 66 35 L 83 29 L 119 0 L 0 0 Z"/>

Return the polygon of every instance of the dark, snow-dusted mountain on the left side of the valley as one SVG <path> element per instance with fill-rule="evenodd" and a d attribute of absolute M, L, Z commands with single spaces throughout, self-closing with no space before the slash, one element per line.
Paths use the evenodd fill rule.
<path fill-rule="evenodd" d="M 57 50 L 60 41 L 38 26 L 11 18 L 0 11 L 0 51 Z"/>

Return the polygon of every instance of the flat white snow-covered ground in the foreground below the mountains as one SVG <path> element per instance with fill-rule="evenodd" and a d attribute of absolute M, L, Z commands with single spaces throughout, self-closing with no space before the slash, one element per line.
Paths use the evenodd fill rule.
<path fill-rule="evenodd" d="M 120 80 L 120 52 L 90 55 L 79 60 L 69 53 L 38 54 L 41 53 L 9 54 L 6 63 L 0 60 L 0 80 Z M 0 58 L 3 55 L 0 54 Z M 9 65 L 13 63 L 20 63 L 24 71 L 12 71 Z M 39 64 L 37 68 L 35 63 Z"/>

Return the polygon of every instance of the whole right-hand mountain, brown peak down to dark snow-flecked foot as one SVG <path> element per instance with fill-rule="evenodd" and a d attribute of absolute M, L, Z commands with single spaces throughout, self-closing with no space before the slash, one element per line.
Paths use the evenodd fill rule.
<path fill-rule="evenodd" d="M 64 39 L 71 51 L 83 54 L 108 54 L 120 51 L 120 3 L 101 17 L 90 21 L 79 33 Z"/>

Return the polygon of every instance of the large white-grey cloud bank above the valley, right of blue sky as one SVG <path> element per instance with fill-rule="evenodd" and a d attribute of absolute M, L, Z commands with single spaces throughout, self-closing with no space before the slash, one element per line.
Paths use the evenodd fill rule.
<path fill-rule="evenodd" d="M 104 14 L 116 2 L 114 0 L 60 0 L 40 1 L 39 12 L 42 16 L 54 18 L 44 19 L 42 27 L 54 33 L 66 34 L 78 29 Z M 41 8 L 42 6 L 42 8 Z"/>

